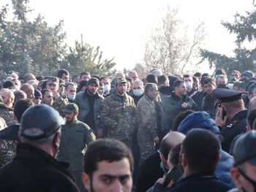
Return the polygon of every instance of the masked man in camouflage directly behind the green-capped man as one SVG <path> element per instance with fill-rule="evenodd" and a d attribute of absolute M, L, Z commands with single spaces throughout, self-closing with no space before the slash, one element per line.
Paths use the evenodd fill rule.
<path fill-rule="evenodd" d="M 76 88 L 77 86 L 74 82 L 67 82 L 65 84 L 64 94 L 61 94 L 58 99 L 53 101 L 53 108 L 57 110 L 62 117 L 65 116 L 63 110 L 66 105 L 73 102 L 75 99 Z"/>

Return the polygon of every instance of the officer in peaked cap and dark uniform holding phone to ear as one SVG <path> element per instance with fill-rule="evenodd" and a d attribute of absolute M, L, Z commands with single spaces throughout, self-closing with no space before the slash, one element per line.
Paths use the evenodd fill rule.
<path fill-rule="evenodd" d="M 215 122 L 220 129 L 222 150 L 229 153 L 233 139 L 246 130 L 247 110 L 241 99 L 244 92 L 217 88 L 213 93 L 219 99 Z"/>

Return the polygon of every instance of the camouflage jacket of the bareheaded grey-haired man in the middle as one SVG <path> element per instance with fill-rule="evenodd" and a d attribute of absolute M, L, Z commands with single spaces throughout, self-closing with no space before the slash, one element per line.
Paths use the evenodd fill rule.
<path fill-rule="evenodd" d="M 138 136 L 157 137 L 157 109 L 154 100 L 143 96 L 137 106 Z"/>

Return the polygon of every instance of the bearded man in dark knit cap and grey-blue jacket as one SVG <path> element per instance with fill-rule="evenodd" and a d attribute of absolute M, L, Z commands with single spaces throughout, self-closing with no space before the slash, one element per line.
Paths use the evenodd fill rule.
<path fill-rule="evenodd" d="M 94 134 L 99 134 L 99 137 L 103 132 L 99 124 L 99 111 L 104 99 L 98 93 L 99 80 L 91 77 L 86 87 L 86 90 L 80 91 L 74 100 L 74 103 L 78 104 L 79 108 L 78 120 L 86 123 L 94 131 Z"/>

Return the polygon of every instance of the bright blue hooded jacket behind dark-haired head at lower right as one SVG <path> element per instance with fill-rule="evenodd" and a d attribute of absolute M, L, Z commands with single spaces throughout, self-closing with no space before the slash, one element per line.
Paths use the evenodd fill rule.
<path fill-rule="evenodd" d="M 193 112 L 188 115 L 178 126 L 178 131 L 187 134 L 192 128 L 205 128 L 208 131 L 213 132 L 219 138 L 219 128 L 207 112 Z M 230 169 L 233 167 L 234 158 L 224 150 L 220 150 L 220 155 L 221 160 L 217 164 L 215 174 L 220 180 L 233 185 Z"/>

